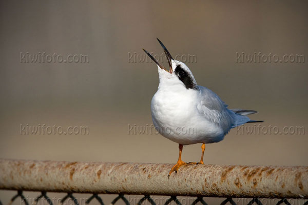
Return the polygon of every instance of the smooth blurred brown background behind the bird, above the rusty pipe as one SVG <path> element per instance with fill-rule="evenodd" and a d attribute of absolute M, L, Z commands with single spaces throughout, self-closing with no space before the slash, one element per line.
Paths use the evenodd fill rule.
<path fill-rule="evenodd" d="M 265 127 L 305 129 L 301 134 L 238 134 L 234 129 L 223 141 L 206 146 L 205 163 L 308 165 L 306 1 L 1 1 L 0 5 L 1 158 L 176 163 L 175 142 L 157 134 L 129 132 L 129 126 L 152 124 L 157 66 L 138 56 L 144 57 L 141 48 L 161 55 L 158 37 L 172 56 L 197 56 L 186 61 L 197 83 L 216 92 L 229 108 L 259 111 L 251 118 L 264 120 Z M 27 56 L 44 52 L 64 59 L 83 54 L 88 61 L 27 61 Z M 259 52 L 280 58 L 301 54 L 305 61 L 240 63 L 237 58 L 237 53 Z M 43 124 L 88 127 L 89 134 L 23 130 Z M 184 147 L 182 158 L 198 161 L 200 147 Z M 0 196 L 7 193 L 0 191 Z"/>

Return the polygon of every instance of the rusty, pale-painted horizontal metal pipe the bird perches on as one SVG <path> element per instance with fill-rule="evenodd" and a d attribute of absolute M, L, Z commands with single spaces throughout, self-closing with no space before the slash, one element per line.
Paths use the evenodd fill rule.
<path fill-rule="evenodd" d="M 104 194 L 308 198 L 308 167 L 0 159 L 0 189 Z"/>

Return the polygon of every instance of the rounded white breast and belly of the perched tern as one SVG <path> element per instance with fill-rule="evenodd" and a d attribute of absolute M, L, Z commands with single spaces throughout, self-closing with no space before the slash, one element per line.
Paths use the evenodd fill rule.
<path fill-rule="evenodd" d="M 178 89 L 159 89 L 152 98 L 152 120 L 158 132 L 183 145 L 222 140 L 224 130 L 198 110 L 200 91 Z"/>

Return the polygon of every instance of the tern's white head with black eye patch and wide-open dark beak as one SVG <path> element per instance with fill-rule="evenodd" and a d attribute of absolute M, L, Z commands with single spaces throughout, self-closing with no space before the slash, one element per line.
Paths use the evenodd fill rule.
<path fill-rule="evenodd" d="M 160 64 L 157 59 L 153 57 L 149 52 L 144 49 L 143 50 L 153 61 L 155 61 L 158 66 L 159 88 L 164 87 L 171 89 L 172 87 L 176 86 L 178 88 L 197 90 L 197 82 L 189 68 L 183 62 L 172 58 L 163 43 L 159 39 L 158 41 L 163 47 L 166 57 L 168 59 L 169 71 L 162 64 Z"/>

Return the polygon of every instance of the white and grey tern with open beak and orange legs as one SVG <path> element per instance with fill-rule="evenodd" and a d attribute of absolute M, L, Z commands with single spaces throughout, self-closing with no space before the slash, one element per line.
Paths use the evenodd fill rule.
<path fill-rule="evenodd" d="M 157 64 L 159 86 L 151 100 L 151 117 L 157 131 L 167 139 L 179 144 L 179 158 L 168 177 L 177 174 L 181 166 L 184 145 L 202 144 L 201 160 L 189 164 L 204 164 L 205 144 L 219 142 L 230 129 L 251 120 L 246 115 L 257 111 L 228 109 L 220 97 L 210 89 L 199 86 L 190 69 L 170 55 L 164 44 L 157 38 L 168 60 L 169 71 L 145 49 L 144 52 Z M 190 130 L 190 131 L 189 131 Z"/>

